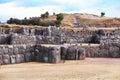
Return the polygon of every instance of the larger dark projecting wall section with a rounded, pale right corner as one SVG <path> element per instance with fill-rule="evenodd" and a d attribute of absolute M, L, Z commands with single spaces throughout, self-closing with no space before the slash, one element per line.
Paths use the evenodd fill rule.
<path fill-rule="evenodd" d="M 44 47 L 37 45 L 35 53 L 37 53 L 37 61 L 40 62 L 58 63 L 61 60 L 59 47 Z"/>

